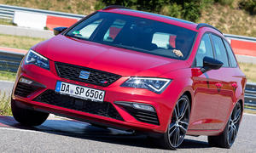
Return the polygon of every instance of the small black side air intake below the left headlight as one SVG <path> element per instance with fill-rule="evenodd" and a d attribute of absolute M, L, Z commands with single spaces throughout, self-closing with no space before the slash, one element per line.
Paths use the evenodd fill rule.
<path fill-rule="evenodd" d="M 18 82 L 15 88 L 15 95 L 26 98 L 29 94 L 34 93 L 37 89 L 38 87 L 29 85 L 26 83 Z"/>

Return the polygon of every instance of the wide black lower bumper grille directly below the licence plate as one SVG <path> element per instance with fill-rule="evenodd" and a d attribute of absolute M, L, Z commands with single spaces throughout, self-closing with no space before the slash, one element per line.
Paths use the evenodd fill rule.
<path fill-rule="evenodd" d="M 75 111 L 83 111 L 98 116 L 107 116 L 116 120 L 123 121 L 118 111 L 108 102 L 93 102 L 85 99 L 77 99 L 64 94 L 55 93 L 54 90 L 47 90 L 40 94 L 33 101 L 56 105 Z"/>

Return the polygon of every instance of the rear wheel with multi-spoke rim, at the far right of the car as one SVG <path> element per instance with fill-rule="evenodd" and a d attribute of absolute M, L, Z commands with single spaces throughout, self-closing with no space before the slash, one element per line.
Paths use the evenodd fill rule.
<path fill-rule="evenodd" d="M 229 121 L 227 122 L 223 133 L 217 136 L 208 136 L 208 143 L 213 147 L 230 149 L 234 144 L 241 121 L 241 103 L 236 103 Z"/>

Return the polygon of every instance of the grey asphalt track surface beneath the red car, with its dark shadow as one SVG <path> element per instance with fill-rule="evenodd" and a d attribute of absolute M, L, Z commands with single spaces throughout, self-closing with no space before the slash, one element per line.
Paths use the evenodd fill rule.
<path fill-rule="evenodd" d="M 0 82 L 11 91 L 12 82 Z M 7 89 L 6 89 L 7 88 Z M 246 114 L 230 150 L 210 147 L 207 137 L 186 136 L 177 152 L 255 152 L 256 116 Z M 43 125 L 24 127 L 11 116 L 0 116 L 0 152 L 169 152 L 146 139 L 111 128 L 50 116 Z"/>

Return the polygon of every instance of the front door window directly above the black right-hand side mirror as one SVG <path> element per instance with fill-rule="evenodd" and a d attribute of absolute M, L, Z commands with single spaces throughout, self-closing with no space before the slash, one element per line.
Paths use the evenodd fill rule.
<path fill-rule="evenodd" d="M 213 58 L 212 44 L 211 44 L 209 34 L 205 34 L 201 38 L 200 46 L 195 55 L 195 66 L 202 67 L 203 59 L 206 56 Z"/>

